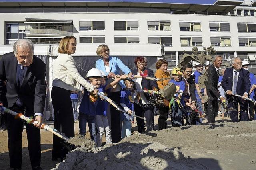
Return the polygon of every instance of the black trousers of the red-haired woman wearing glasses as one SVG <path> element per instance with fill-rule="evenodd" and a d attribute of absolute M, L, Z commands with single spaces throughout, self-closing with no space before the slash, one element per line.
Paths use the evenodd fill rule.
<path fill-rule="evenodd" d="M 147 131 L 154 130 L 154 107 L 152 106 L 152 104 L 144 105 L 143 107 L 141 107 L 139 104 L 134 103 L 134 111 L 135 115 L 146 117 Z M 138 126 L 138 132 L 145 132 L 144 119 L 136 117 L 136 121 Z"/>

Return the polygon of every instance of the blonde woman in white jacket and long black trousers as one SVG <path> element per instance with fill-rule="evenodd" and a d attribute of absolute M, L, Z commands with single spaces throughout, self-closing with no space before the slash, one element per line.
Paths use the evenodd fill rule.
<path fill-rule="evenodd" d="M 76 38 L 66 36 L 60 41 L 58 53 L 53 63 L 52 105 L 54 109 L 54 128 L 67 137 L 74 137 L 73 109 L 70 99 L 71 91 L 80 90 L 80 84 L 89 92 L 97 94 L 98 90 L 88 83 L 76 69 L 76 63 L 71 56 L 76 51 Z M 63 140 L 53 136 L 52 160 L 65 159 L 68 150 L 63 146 Z M 74 146 L 72 146 L 74 148 Z"/>

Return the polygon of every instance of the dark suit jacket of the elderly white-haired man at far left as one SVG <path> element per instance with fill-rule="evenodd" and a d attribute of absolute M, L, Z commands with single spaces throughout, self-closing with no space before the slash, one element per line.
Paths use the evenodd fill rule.
<path fill-rule="evenodd" d="M 46 64 L 34 55 L 33 63 L 24 72 L 20 88 L 16 82 L 18 61 L 14 53 L 6 53 L 0 60 L 0 102 L 6 96 L 8 107 L 12 107 L 20 98 L 29 114 L 43 113 L 46 94 Z M 4 81 L 6 92 L 4 91 Z"/>

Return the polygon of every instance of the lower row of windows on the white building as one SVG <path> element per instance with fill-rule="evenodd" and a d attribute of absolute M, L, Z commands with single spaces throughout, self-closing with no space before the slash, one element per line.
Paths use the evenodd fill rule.
<path fill-rule="evenodd" d="M 212 46 L 231 47 L 230 37 L 210 37 Z M 115 36 L 115 43 L 139 43 L 139 36 Z M 80 37 L 80 43 L 105 43 L 105 37 Z M 148 43 L 172 46 L 172 37 L 148 37 Z M 181 46 L 203 46 L 202 37 L 180 37 Z M 255 47 L 256 38 L 239 38 L 240 47 Z"/>

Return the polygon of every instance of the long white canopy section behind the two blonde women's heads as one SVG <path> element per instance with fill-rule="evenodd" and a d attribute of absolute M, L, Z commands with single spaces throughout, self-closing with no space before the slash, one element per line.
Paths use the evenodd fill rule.
<path fill-rule="evenodd" d="M 79 43 L 73 56 L 97 56 L 96 50 L 100 44 Z M 160 44 L 120 43 L 108 45 L 112 56 L 162 56 Z M 58 56 L 58 45 L 52 45 L 51 56 Z"/>

